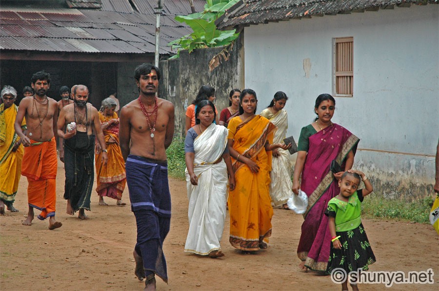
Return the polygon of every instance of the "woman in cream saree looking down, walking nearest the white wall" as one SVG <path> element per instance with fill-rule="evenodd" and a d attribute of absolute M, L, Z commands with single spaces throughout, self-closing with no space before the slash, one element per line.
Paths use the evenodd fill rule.
<path fill-rule="evenodd" d="M 287 95 L 282 91 L 278 91 L 274 95 L 270 105 L 260 112 L 261 116 L 267 118 L 278 127 L 273 138 L 273 143 L 283 143 L 283 139 L 286 137 L 288 115 L 283 108 L 287 100 Z M 273 150 L 272 154 L 272 170 L 270 175 L 271 201 L 275 206 L 288 209 L 286 202 L 292 193 L 291 168 L 293 162 L 291 155 L 288 150 L 281 148 Z"/>

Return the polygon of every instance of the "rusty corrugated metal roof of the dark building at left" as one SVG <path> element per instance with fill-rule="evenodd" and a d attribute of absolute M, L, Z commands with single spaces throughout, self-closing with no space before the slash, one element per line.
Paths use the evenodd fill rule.
<path fill-rule="evenodd" d="M 191 13 L 189 1 L 163 1 L 160 54 L 168 42 L 190 33 L 174 20 Z M 0 49 L 83 53 L 154 53 L 156 0 L 66 0 L 63 7 L 0 6 Z M 205 1 L 194 0 L 197 11 Z M 18 6 L 18 5 L 17 5 Z M 92 7 L 93 6 L 93 7 Z M 99 7 L 98 7 L 99 6 Z"/>

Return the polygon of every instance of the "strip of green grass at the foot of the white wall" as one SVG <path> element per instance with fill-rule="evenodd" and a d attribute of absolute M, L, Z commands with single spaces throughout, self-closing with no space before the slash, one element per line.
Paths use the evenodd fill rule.
<path fill-rule="evenodd" d="M 433 198 L 428 196 L 421 200 L 404 201 L 385 199 L 379 195 L 371 195 L 361 203 L 364 217 L 394 218 L 397 220 L 429 223 Z"/>

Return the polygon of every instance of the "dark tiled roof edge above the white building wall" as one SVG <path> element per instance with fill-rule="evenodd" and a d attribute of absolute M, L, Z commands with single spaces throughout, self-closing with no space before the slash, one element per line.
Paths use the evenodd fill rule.
<path fill-rule="evenodd" d="M 438 3 L 438 0 L 241 0 L 216 23 L 219 29 L 230 29 L 292 18 L 363 12 L 393 5 L 409 6 L 410 3 Z"/>

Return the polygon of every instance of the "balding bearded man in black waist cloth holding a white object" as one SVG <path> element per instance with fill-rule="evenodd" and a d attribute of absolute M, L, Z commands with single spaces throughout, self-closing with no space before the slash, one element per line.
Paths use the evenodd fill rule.
<path fill-rule="evenodd" d="M 102 148 L 102 164 L 107 164 L 107 149 L 100 126 L 98 110 L 88 101 L 88 88 L 78 85 L 73 89 L 74 103 L 61 109 L 58 118 L 58 135 L 64 139 L 64 199 L 67 200 L 67 214 L 88 219 L 85 210 L 90 211 L 90 196 L 94 180 L 95 135 Z M 67 127 L 75 123 L 76 127 Z M 67 129 L 65 129 L 67 127 Z M 64 131 L 65 130 L 65 131 Z"/>

